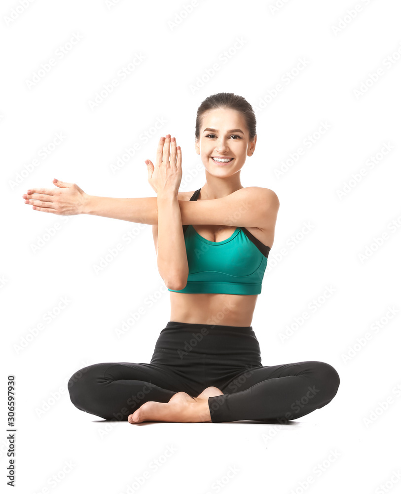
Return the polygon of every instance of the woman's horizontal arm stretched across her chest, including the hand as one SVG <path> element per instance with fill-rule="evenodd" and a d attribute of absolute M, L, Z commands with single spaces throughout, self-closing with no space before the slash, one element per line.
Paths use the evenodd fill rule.
<path fill-rule="evenodd" d="M 58 189 L 30 189 L 23 198 L 38 211 L 93 214 L 157 225 L 157 197 L 113 198 L 85 194 L 76 184 L 54 179 Z M 183 225 L 228 225 L 274 228 L 279 201 L 271 189 L 244 187 L 207 201 L 178 201 Z"/>

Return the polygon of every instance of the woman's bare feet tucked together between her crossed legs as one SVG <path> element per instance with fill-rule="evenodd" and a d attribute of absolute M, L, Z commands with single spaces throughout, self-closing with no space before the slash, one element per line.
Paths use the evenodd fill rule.
<path fill-rule="evenodd" d="M 224 394 L 219 388 L 209 386 L 196 398 L 179 391 L 168 403 L 146 402 L 128 416 L 130 424 L 141 422 L 211 422 L 208 398 Z"/>

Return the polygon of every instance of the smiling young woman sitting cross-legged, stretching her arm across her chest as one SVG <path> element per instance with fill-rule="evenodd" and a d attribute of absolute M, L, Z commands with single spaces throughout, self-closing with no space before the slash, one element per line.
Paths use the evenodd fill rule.
<path fill-rule="evenodd" d="M 200 189 L 178 192 L 181 148 L 167 134 L 155 165 L 146 160 L 157 198 L 94 197 L 56 179 L 57 189 L 24 194 L 38 211 L 152 225 L 158 270 L 170 291 L 170 321 L 150 363 L 109 362 L 77 371 L 69 391 L 79 410 L 132 424 L 284 423 L 324 407 L 337 393 L 339 375 L 324 362 L 261 364 L 251 324 L 279 201 L 270 189 L 241 185 L 255 145 L 252 106 L 241 96 L 218 93 L 202 102 L 196 116 L 195 150 L 206 172 Z"/>

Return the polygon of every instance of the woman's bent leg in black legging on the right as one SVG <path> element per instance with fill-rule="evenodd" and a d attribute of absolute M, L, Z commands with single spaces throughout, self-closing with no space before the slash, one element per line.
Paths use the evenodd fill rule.
<path fill-rule="evenodd" d="M 319 361 L 250 368 L 208 399 L 212 422 L 294 420 L 327 405 L 340 384 L 337 371 Z"/>

